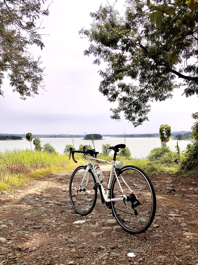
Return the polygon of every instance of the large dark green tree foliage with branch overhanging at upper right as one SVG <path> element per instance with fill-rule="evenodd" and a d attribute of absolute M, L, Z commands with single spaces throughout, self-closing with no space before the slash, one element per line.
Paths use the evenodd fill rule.
<path fill-rule="evenodd" d="M 182 85 L 186 97 L 198 94 L 198 13 L 192 10 L 197 10 L 193 0 L 126 4 L 124 16 L 112 6 L 101 6 L 91 13 L 91 28 L 79 33 L 91 42 L 84 55 L 93 55 L 93 64 L 107 64 L 99 71 L 99 91 L 110 102 L 117 101 L 111 118 L 120 120 L 124 112 L 136 127 L 148 120 L 150 101 L 172 98 L 172 91 Z M 175 83 L 176 76 L 181 83 Z"/>

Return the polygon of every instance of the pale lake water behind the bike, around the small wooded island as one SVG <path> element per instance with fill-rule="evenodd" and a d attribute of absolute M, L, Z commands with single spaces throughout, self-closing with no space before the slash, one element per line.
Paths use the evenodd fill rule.
<path fill-rule="evenodd" d="M 95 140 L 94 145 L 97 152 L 102 151 L 102 144 L 121 144 L 124 143 L 124 138 L 114 138 L 114 137 L 103 137 L 102 140 Z M 63 154 L 63 150 L 66 144 L 72 144 L 71 138 L 40 138 L 41 145 L 45 143 L 50 143 L 60 154 Z M 126 146 L 129 147 L 131 151 L 131 156 L 136 158 L 146 157 L 150 150 L 154 147 L 160 147 L 160 140 L 158 137 L 150 137 L 150 138 L 126 138 L 125 140 Z M 191 141 L 187 140 L 178 140 L 178 145 L 181 148 L 181 151 L 184 151 L 187 144 L 191 143 Z M 74 138 L 74 147 L 76 149 L 79 148 L 80 144 L 91 144 L 91 140 L 83 140 L 83 138 Z M 171 139 L 167 145 L 170 147 L 172 151 L 175 151 L 175 145 L 177 144 L 176 140 Z M 9 141 L 0 141 L 0 151 L 3 152 L 5 149 L 13 150 L 13 149 L 26 149 L 30 147 L 30 143 L 25 139 L 22 140 L 9 140 Z M 34 145 L 32 143 L 32 148 Z M 113 152 L 111 152 L 113 154 Z"/>

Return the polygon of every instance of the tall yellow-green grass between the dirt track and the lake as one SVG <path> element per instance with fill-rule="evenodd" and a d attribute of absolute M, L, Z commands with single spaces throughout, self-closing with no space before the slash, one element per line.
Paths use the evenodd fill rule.
<path fill-rule="evenodd" d="M 111 161 L 113 156 L 97 156 L 100 159 Z M 46 152 L 14 150 L 0 152 L 0 191 L 9 191 L 27 184 L 32 178 L 40 178 L 51 172 L 61 170 L 72 171 L 79 165 L 86 165 L 82 154 L 75 154 L 78 163 L 69 160 L 69 154 L 56 155 Z M 146 159 L 117 157 L 117 163 L 123 161 L 124 165 L 134 165 L 142 168 L 147 173 L 173 172 L 175 168 L 154 165 Z M 102 162 L 101 164 L 106 164 Z"/>

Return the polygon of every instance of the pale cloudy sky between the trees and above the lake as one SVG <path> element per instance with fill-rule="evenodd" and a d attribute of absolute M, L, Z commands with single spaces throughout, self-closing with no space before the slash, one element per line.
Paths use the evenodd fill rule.
<path fill-rule="evenodd" d="M 49 2 L 49 1 L 48 1 Z M 106 1 L 54 0 L 50 16 L 45 17 L 43 36 L 45 48 L 31 47 L 41 55 L 45 69 L 46 90 L 35 98 L 22 101 L 12 92 L 9 81 L 4 81 L 4 98 L 0 97 L 0 133 L 33 134 L 126 134 L 156 133 L 168 123 L 172 131 L 190 130 L 191 114 L 197 111 L 197 96 L 185 98 L 182 90 L 174 91 L 173 99 L 152 103 L 149 122 L 134 128 L 122 117 L 121 122 L 110 119 L 112 104 L 99 91 L 102 66 L 93 66 L 91 57 L 84 57 L 87 39 L 81 39 L 81 27 L 89 29 L 89 12 L 96 11 Z M 112 3 L 113 1 L 109 1 Z M 116 5 L 121 10 L 124 0 Z"/>

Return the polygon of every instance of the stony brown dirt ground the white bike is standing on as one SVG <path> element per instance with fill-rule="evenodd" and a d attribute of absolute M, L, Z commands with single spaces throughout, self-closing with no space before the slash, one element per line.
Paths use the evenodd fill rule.
<path fill-rule="evenodd" d="M 118 227 L 100 194 L 90 215 L 75 214 L 71 174 L 51 174 L 0 195 L 0 264 L 198 264 L 197 176 L 149 175 L 157 212 L 152 226 L 134 236 Z M 165 193 L 170 186 L 176 192 Z M 85 223 L 73 224 L 77 220 Z"/>

